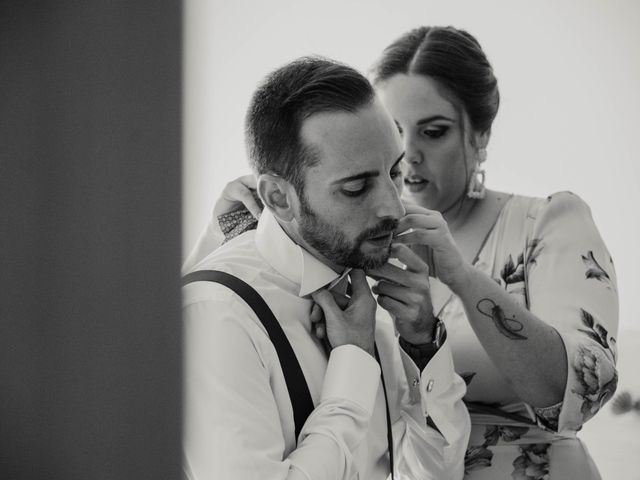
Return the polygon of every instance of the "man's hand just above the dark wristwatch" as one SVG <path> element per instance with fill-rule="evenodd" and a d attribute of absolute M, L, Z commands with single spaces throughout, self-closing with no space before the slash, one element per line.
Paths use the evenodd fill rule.
<path fill-rule="evenodd" d="M 408 246 L 394 243 L 391 258 L 405 268 L 387 263 L 367 271 L 378 282 L 371 291 L 378 295 L 378 304 L 388 311 L 400 336 L 420 345 L 431 342 L 435 317 L 429 288 L 429 267 Z"/>

